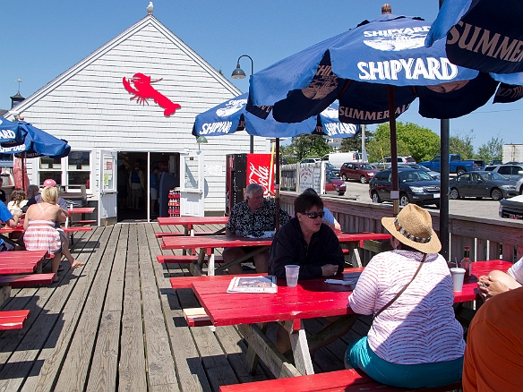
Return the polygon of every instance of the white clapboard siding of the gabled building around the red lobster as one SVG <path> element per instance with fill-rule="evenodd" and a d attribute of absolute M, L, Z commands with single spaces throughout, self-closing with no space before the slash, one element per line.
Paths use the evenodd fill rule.
<path fill-rule="evenodd" d="M 153 87 L 181 105 L 176 114 L 152 99 L 139 105 L 124 89 L 123 78 L 143 73 Z M 133 84 L 132 84 L 133 85 Z M 87 55 L 54 81 L 50 81 L 7 115 L 23 114 L 26 121 L 69 142 L 73 149 L 93 150 L 93 192 L 98 194 L 99 149 L 184 152 L 198 149 L 193 135 L 194 117 L 234 98 L 241 91 L 206 63 L 190 47 L 148 15 L 103 47 Z M 245 132 L 209 138 L 200 146 L 206 175 L 205 209 L 225 209 L 225 155 L 249 150 Z M 268 141 L 255 138 L 256 152 L 267 152 Z M 29 160 L 29 174 L 36 173 Z M 221 175 L 216 175 L 220 172 Z M 96 200 L 96 197 L 93 199 Z"/>

